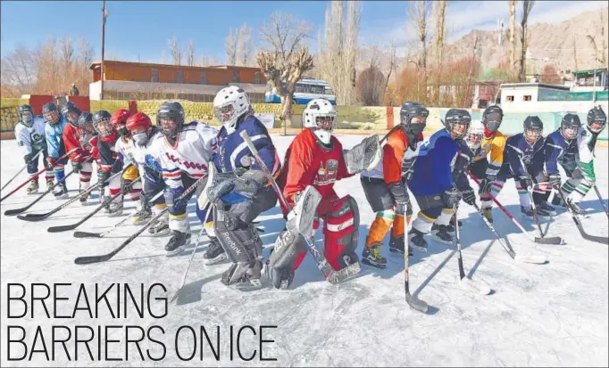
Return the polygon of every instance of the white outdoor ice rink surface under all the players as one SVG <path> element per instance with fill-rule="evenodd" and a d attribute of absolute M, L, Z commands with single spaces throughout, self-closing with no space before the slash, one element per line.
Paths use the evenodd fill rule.
<path fill-rule="evenodd" d="M 338 139 L 346 148 L 360 142 L 363 136 L 339 135 Z M 274 135 L 273 141 L 283 157 L 293 136 Z M 14 141 L 2 141 L 1 184 L 4 184 L 22 166 L 23 160 L 17 153 Z M 598 188 L 607 199 L 607 150 L 596 152 L 596 176 Z M 69 171 L 70 166 L 66 167 Z M 67 172 L 66 171 L 66 172 Z M 95 171 L 95 170 L 94 170 Z M 21 173 L 3 193 L 12 190 L 26 178 Z M 92 182 L 96 182 L 96 175 Z M 45 183 L 40 180 L 44 190 Z M 475 184 L 474 184 L 475 185 Z M 78 188 L 78 177 L 68 180 L 71 195 Z M 346 179 L 336 185 L 338 195 L 353 195 L 361 214 L 359 228 L 359 249 L 361 255 L 374 213 L 365 200 L 359 177 Z M 86 266 L 74 264 L 79 256 L 104 254 L 127 239 L 137 229 L 134 225 L 121 225 L 113 235 L 105 239 L 75 239 L 72 232 L 47 233 L 54 225 L 68 225 L 95 209 L 95 206 L 81 207 L 78 203 L 63 209 L 53 217 L 38 223 L 28 223 L 16 217 L 5 217 L 6 209 L 16 209 L 27 205 L 36 196 L 28 196 L 25 191 L 14 194 L 2 203 L 2 361 L 3 366 L 115 366 L 115 365 L 368 365 L 368 366 L 411 366 L 411 365 L 475 365 L 475 366 L 607 366 L 607 245 L 582 240 L 571 217 L 563 209 L 552 219 L 548 235 L 560 235 L 566 245 L 535 245 L 516 228 L 499 210 L 494 209 L 496 229 L 507 235 L 516 252 L 525 252 L 537 247 L 549 263 L 543 266 L 514 262 L 497 243 L 494 235 L 470 206 L 463 204 L 459 218 L 463 220 L 462 245 L 463 264 L 468 277 L 487 282 L 493 292 L 488 296 L 468 292 L 458 287 L 458 267 L 455 249 L 435 242 L 428 237 L 430 249 L 427 254 L 414 253 L 410 260 L 411 292 L 430 304 L 430 314 L 423 315 L 410 309 L 405 303 L 404 259 L 382 249 L 388 258 L 388 267 L 378 270 L 363 266 L 363 274 L 349 282 L 330 285 L 325 282 L 310 256 L 296 273 L 291 290 L 263 289 L 251 292 L 230 290 L 220 282 L 221 273 L 227 269 L 226 262 L 204 266 L 204 242 L 199 246 L 190 267 L 186 286 L 179 294 L 177 304 L 169 306 L 168 314 L 154 319 L 148 313 L 139 318 L 129 307 L 126 318 L 112 318 L 104 304 L 99 318 L 91 319 L 86 312 L 78 312 L 73 319 L 46 318 L 40 302 L 34 305 L 34 318 L 28 315 L 21 319 L 9 319 L 7 310 L 8 283 L 24 284 L 30 295 L 30 284 L 44 282 L 72 283 L 60 286 L 57 294 L 70 298 L 57 302 L 59 315 L 71 314 L 74 301 L 82 282 L 89 293 L 91 304 L 95 303 L 95 285 L 100 290 L 107 289 L 113 282 L 129 283 L 138 297 L 138 285 L 143 283 L 147 290 L 154 282 L 161 282 L 167 292 L 154 297 L 171 298 L 179 287 L 182 274 L 188 264 L 190 251 L 184 251 L 175 258 L 164 256 L 167 237 L 141 237 L 123 249 L 111 261 Z M 519 215 L 517 192 L 508 182 L 499 200 L 514 216 Z M 96 203 L 96 200 L 92 200 Z M 414 202 L 414 201 L 413 201 Z M 41 213 L 54 209 L 61 203 L 52 195 L 38 202 L 28 213 Z M 415 205 L 416 206 L 416 205 Z M 126 213 L 133 210 L 134 203 L 126 201 Z M 591 215 L 583 220 L 589 233 L 606 236 L 607 217 L 593 191 L 582 202 Z M 190 200 L 188 209 L 192 213 L 188 219 L 193 226 L 192 243 L 200 225 L 194 214 L 195 200 Z M 415 209 L 416 210 L 416 209 Z M 108 218 L 103 213 L 96 214 L 77 230 L 103 232 L 122 217 Z M 520 219 L 520 216 L 517 216 Z M 258 218 L 263 227 L 264 256 L 283 228 L 284 221 L 279 207 L 271 209 Z M 536 225 L 521 221 L 531 234 L 538 236 Z M 546 230 L 548 221 L 542 219 Z M 317 234 L 317 245 L 321 247 L 321 232 Z M 387 243 L 388 239 L 386 239 Z M 12 289 L 13 290 L 13 289 Z M 37 290 L 44 296 L 44 290 Z M 21 291 L 20 291 L 21 292 Z M 53 292 L 53 290 L 52 290 Z M 13 297 L 19 292 L 13 290 Z M 108 298 L 116 298 L 115 289 Z M 159 311 L 162 303 L 152 301 L 153 309 Z M 84 306 L 84 302 L 80 303 Z M 129 303 L 131 306 L 132 303 Z M 31 306 L 31 305 L 29 305 Z M 47 303 L 53 313 L 53 303 Z M 12 305 L 12 314 L 22 310 L 19 302 Z M 95 317 L 95 315 L 94 315 Z M 32 347 L 37 326 L 44 333 L 46 348 L 52 348 L 51 326 L 65 325 L 74 331 L 76 325 L 139 325 L 145 330 L 149 326 L 162 326 L 165 333 L 151 332 L 153 339 L 162 341 L 166 356 L 154 362 L 146 356 L 161 356 L 160 345 L 144 339 L 140 347 L 145 361 L 139 357 L 138 347 L 129 343 L 124 348 L 124 330 L 117 329 L 108 345 L 109 356 L 125 358 L 129 361 L 91 362 L 84 345 L 79 346 L 79 360 L 74 360 L 74 343 L 67 344 L 71 361 L 60 343 L 54 344 L 54 361 L 47 361 L 44 353 L 34 353 L 31 361 L 7 361 L 7 325 L 21 325 L 26 330 L 25 342 Z M 196 331 L 197 344 L 203 341 L 203 360 L 200 346 L 196 346 L 196 356 L 190 361 L 181 361 L 176 355 L 175 336 L 179 326 L 191 325 Z M 216 327 L 221 331 L 221 359 L 217 362 L 199 326 L 204 325 L 215 344 Z M 229 327 L 236 335 L 238 328 L 251 325 L 256 330 L 244 331 L 241 340 L 241 354 L 248 357 L 254 349 L 257 354 L 253 361 L 239 359 L 233 346 L 230 357 Z M 260 361 L 258 326 L 276 325 L 276 329 L 264 331 L 263 339 L 273 339 L 263 345 L 263 357 L 275 357 L 277 361 Z M 129 332 L 131 339 L 138 339 L 138 332 Z M 67 337 L 67 332 L 58 332 L 57 339 Z M 87 339 L 88 333 L 80 339 Z M 12 339 L 19 339 L 21 331 L 13 331 Z M 104 336 L 102 336 L 104 338 Z M 72 336 L 71 339 L 74 339 Z M 96 336 L 97 339 L 97 336 Z M 96 339 L 91 350 L 97 360 Z M 189 356 L 193 340 L 188 331 L 181 331 L 178 341 L 181 356 Z M 42 348 L 40 341 L 36 348 Z M 106 348 L 101 345 L 104 358 Z M 21 356 L 18 343 L 13 344 L 11 355 Z"/>

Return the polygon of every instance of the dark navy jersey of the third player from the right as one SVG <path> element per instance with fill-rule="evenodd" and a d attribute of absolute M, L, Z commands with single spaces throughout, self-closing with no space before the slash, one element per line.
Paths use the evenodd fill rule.
<path fill-rule="evenodd" d="M 545 163 L 544 140 L 539 138 L 535 144 L 530 145 L 524 138 L 523 133 L 507 138 L 507 141 L 505 141 L 504 167 L 507 166 L 515 177 L 525 176 L 521 159 L 529 172 L 542 172 Z"/>

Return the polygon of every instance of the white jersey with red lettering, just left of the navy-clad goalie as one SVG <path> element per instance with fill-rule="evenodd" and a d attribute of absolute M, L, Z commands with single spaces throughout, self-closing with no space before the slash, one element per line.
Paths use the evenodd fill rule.
<path fill-rule="evenodd" d="M 163 168 L 165 184 L 182 186 L 182 174 L 194 179 L 207 175 L 209 161 L 217 150 L 217 136 L 215 128 L 204 122 L 192 121 L 179 131 L 174 145 L 166 137 L 157 141 L 153 149 Z"/>

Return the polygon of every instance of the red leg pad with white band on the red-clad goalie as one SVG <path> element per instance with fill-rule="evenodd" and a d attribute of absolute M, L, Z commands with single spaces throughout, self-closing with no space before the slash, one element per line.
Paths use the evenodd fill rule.
<path fill-rule="evenodd" d="M 343 256 L 357 257 L 355 249 L 359 237 L 360 214 L 357 202 L 350 195 L 332 200 L 328 206 L 326 211 L 320 211 L 325 215 L 323 253 L 330 266 L 339 271 L 348 266 L 345 265 Z"/>

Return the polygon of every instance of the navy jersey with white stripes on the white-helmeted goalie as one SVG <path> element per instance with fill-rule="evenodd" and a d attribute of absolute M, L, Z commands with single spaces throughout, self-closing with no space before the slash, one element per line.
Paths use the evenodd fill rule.
<path fill-rule="evenodd" d="M 279 175 L 281 162 L 271 141 L 269 131 L 254 116 L 239 123 L 237 129 L 231 134 L 227 134 L 224 127 L 221 128 L 218 134 L 218 151 L 213 155 L 214 166 L 221 173 L 237 171 L 238 168 L 262 170 L 256 162 L 252 162 L 254 155 L 241 138 L 240 133 L 244 130 L 254 143 L 260 158 L 263 159 L 264 164 L 271 171 L 271 175 Z"/>

